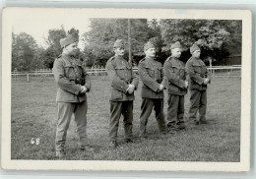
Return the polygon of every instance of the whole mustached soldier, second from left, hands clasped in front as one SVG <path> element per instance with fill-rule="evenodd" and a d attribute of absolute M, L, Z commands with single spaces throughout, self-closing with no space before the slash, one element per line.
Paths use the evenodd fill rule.
<path fill-rule="evenodd" d="M 133 72 L 132 65 L 123 58 L 124 41 L 117 39 L 114 43 L 113 50 L 115 55 L 107 61 L 105 67 L 111 82 L 109 121 L 110 148 L 117 147 L 117 131 L 121 114 L 123 115 L 125 142 L 133 142 L 132 122 L 133 100 L 135 98 L 134 90 L 137 89 L 139 84 L 139 79 Z"/>

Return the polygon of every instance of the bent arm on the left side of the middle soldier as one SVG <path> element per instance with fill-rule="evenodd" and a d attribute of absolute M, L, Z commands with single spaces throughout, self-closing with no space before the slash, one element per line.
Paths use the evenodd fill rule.
<path fill-rule="evenodd" d="M 160 89 L 160 84 L 149 76 L 144 63 L 139 64 L 139 75 L 145 86 L 154 91 L 158 91 Z"/>

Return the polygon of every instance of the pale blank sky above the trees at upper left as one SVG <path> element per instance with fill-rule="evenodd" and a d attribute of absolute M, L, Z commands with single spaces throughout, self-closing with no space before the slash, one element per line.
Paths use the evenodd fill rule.
<path fill-rule="evenodd" d="M 59 30 L 63 25 L 64 30 L 72 28 L 79 30 L 80 37 L 83 33 L 90 30 L 90 19 L 80 19 L 69 14 L 38 13 L 28 14 L 28 16 L 17 16 L 14 18 L 12 31 L 15 34 L 26 32 L 31 34 L 38 46 L 47 47 L 45 38 L 48 36 L 48 30 Z M 83 43 L 78 44 L 83 48 Z"/>

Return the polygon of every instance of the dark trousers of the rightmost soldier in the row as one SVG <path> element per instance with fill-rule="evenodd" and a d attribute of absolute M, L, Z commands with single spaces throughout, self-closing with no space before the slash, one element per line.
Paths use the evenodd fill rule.
<path fill-rule="evenodd" d="M 197 121 L 196 115 L 199 111 L 199 121 L 206 120 L 207 92 L 206 90 L 190 90 L 189 119 Z"/>

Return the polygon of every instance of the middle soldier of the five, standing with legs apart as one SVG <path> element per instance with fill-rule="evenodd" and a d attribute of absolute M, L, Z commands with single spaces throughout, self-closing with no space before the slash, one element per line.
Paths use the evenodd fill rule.
<path fill-rule="evenodd" d="M 156 112 L 161 134 L 165 134 L 165 121 L 163 115 L 163 70 L 160 62 L 156 61 L 156 49 L 152 42 L 144 46 L 146 57 L 139 63 L 139 75 L 142 80 L 142 105 L 140 116 L 140 137 L 147 138 L 146 126 L 152 109 Z"/>

